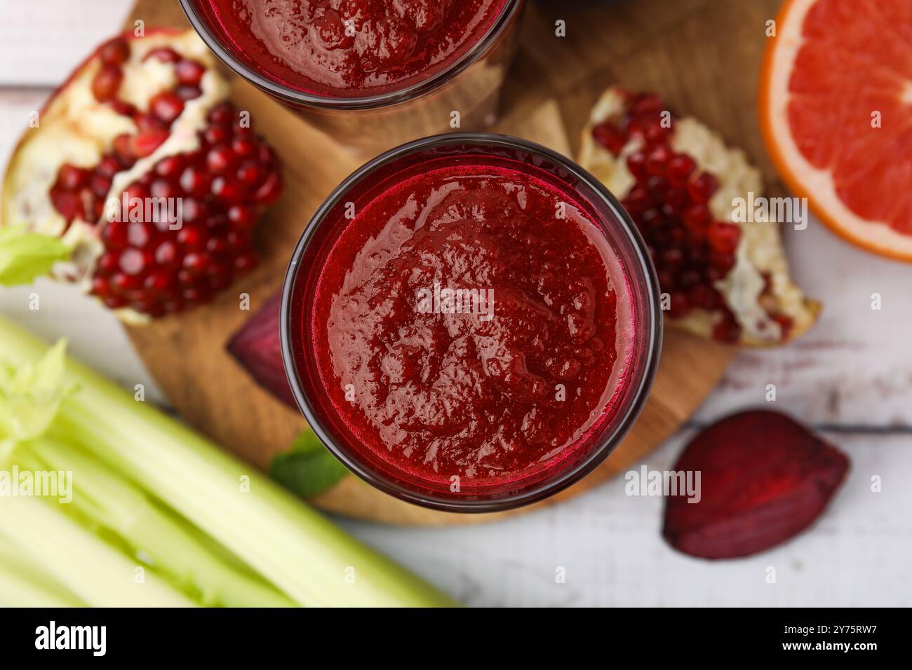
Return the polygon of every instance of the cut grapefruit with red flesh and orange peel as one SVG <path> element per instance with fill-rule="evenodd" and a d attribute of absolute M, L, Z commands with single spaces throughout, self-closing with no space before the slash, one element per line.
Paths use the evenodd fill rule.
<path fill-rule="evenodd" d="M 783 180 L 834 232 L 912 262 L 912 2 L 787 0 L 761 75 Z"/>

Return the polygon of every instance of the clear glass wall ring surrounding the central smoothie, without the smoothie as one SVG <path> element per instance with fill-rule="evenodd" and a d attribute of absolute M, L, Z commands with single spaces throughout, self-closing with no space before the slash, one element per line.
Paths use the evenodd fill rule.
<path fill-rule="evenodd" d="M 362 203 L 416 172 L 454 161 L 483 160 L 550 180 L 586 207 L 625 273 L 633 323 L 627 374 L 618 381 L 617 402 L 603 425 L 571 447 L 572 455 L 553 467 L 472 489 L 463 482 L 454 493 L 429 484 L 379 459 L 351 433 L 320 381 L 312 314 L 316 286 L 333 242 L 350 223 L 349 203 Z M 359 204 L 358 204 L 359 206 Z M 361 479 L 401 500 L 438 510 L 505 510 L 544 499 L 596 468 L 633 425 L 648 396 L 661 348 L 658 282 L 646 246 L 617 199 L 571 160 L 533 142 L 490 133 L 450 133 L 419 139 L 371 160 L 343 181 L 316 211 L 298 241 L 285 276 L 281 337 L 285 372 L 298 406 L 316 435 Z"/>

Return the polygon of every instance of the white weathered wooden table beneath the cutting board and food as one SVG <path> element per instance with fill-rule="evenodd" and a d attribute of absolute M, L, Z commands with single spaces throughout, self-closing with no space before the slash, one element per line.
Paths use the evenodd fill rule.
<path fill-rule="evenodd" d="M 162 0 L 167 2 L 171 0 Z M 69 69 L 118 30 L 129 0 L 0 3 L 0 161 L 27 115 Z M 905 160 L 909 160 L 906 158 Z M 817 222 L 787 237 L 794 271 L 823 317 L 794 345 L 738 356 L 720 387 L 647 465 L 670 469 L 699 428 L 731 411 L 770 407 L 843 448 L 852 471 L 811 531 L 749 559 L 704 562 L 659 536 L 662 500 L 630 498 L 623 480 L 549 510 L 471 528 L 399 529 L 340 521 L 349 531 L 476 605 L 912 605 L 912 265 L 835 239 Z M 0 290 L 0 312 L 66 335 L 90 365 L 167 405 L 117 322 L 66 286 Z M 871 309 L 871 294 L 883 308 Z M 883 490 L 873 493 L 874 475 Z M 765 582 L 768 566 L 775 583 Z M 565 583 L 555 572 L 564 568 Z"/>

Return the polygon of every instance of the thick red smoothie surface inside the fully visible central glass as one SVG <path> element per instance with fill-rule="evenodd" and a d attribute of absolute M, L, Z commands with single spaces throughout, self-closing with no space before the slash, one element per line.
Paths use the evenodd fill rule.
<path fill-rule="evenodd" d="M 520 170 L 448 164 L 372 196 L 304 315 L 357 448 L 411 477 L 521 479 L 614 417 L 636 327 L 627 278 L 575 196 Z"/>

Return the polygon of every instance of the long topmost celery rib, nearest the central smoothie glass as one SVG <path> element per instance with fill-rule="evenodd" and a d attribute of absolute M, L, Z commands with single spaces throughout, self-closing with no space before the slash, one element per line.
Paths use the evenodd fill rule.
<path fill-rule="evenodd" d="M 0 358 L 47 345 L 0 320 Z M 98 458 L 219 541 L 302 605 L 444 606 L 448 596 L 337 529 L 251 466 L 67 358 L 78 391 L 55 419 Z M 242 486 L 242 483 L 244 486 Z"/>

